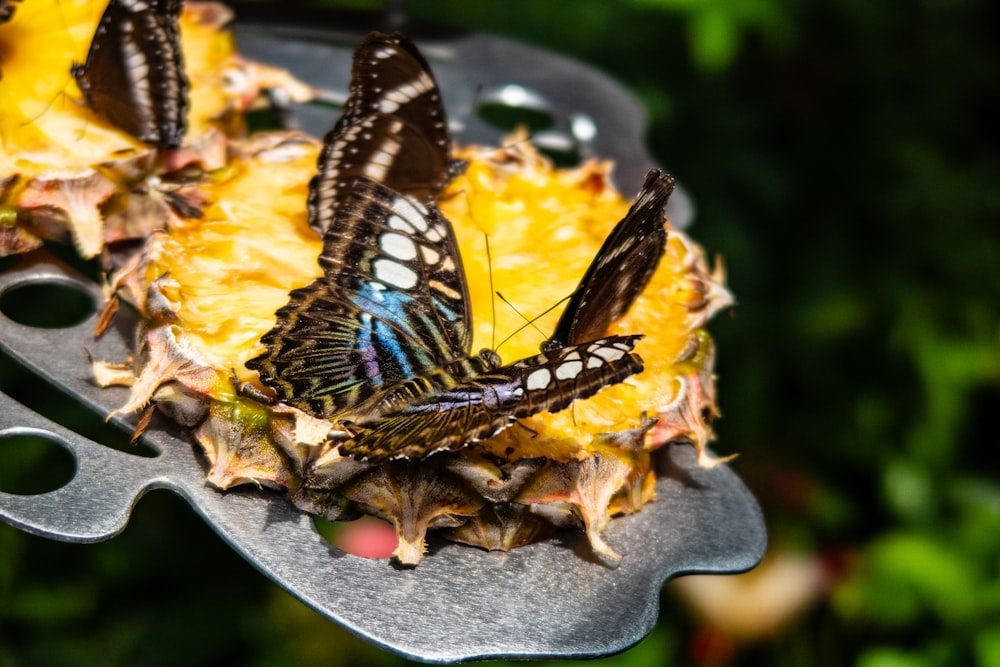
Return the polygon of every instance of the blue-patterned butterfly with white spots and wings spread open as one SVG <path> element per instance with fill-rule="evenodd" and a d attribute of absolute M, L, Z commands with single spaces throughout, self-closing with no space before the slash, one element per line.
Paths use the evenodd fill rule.
<path fill-rule="evenodd" d="M 279 400 L 337 419 L 347 454 L 419 458 L 555 412 L 642 370 L 641 336 L 567 345 L 501 366 L 470 355 L 471 309 L 451 225 L 359 178 L 323 239 L 324 276 L 294 290 L 247 362 Z"/>

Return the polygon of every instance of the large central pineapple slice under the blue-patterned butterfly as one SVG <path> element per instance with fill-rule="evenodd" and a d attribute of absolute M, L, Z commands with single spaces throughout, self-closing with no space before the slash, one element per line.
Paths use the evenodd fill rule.
<path fill-rule="evenodd" d="M 559 170 L 526 142 L 512 146 L 463 150 L 469 168 L 440 201 L 468 279 L 473 349 L 502 339 L 508 360 L 537 352 L 558 318 L 553 306 L 572 293 L 629 206 L 610 184 L 610 165 Z M 321 275 L 321 241 L 305 209 L 318 144 L 263 135 L 242 149 L 203 184 L 203 216 L 155 233 L 115 278 L 116 293 L 143 315 L 131 372 L 95 365 L 103 382 L 131 386 L 121 411 L 155 404 L 193 429 L 215 486 L 284 487 L 300 508 L 327 519 L 383 517 L 396 528 L 394 555 L 410 565 L 422 558 L 430 529 L 509 549 L 556 526 L 582 528 L 614 562 L 620 556 L 603 530 L 614 514 L 653 499 L 657 447 L 686 441 L 702 465 L 717 462 L 705 449 L 716 408 L 704 327 L 732 298 L 721 269 L 710 271 L 675 230 L 649 286 L 609 332 L 645 334 L 636 348 L 645 371 L 459 452 L 355 461 L 327 442 L 330 422 L 234 391 L 234 379 L 266 391 L 244 364 L 262 352 L 259 339 L 288 292 Z M 493 289 L 511 305 L 497 303 Z"/>

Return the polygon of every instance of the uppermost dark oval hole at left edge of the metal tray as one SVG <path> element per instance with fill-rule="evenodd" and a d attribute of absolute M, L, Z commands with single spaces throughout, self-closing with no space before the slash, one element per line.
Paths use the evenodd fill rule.
<path fill-rule="evenodd" d="M 94 299 L 71 284 L 28 282 L 0 293 L 0 313 L 18 324 L 39 329 L 65 329 L 94 314 Z"/>

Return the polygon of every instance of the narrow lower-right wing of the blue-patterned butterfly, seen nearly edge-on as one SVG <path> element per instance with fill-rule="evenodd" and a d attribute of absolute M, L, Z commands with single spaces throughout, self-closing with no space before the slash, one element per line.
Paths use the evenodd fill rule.
<path fill-rule="evenodd" d="M 346 423 L 347 455 L 369 461 L 422 458 L 485 440 L 517 419 L 558 412 L 642 370 L 641 336 L 559 348 L 478 375 L 368 423 Z"/>

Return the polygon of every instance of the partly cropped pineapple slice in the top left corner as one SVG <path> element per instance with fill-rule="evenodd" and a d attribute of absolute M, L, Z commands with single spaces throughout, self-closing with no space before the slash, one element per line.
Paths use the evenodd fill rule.
<path fill-rule="evenodd" d="M 55 240 L 93 257 L 105 243 L 145 237 L 176 217 L 168 203 L 189 185 L 161 177 L 224 166 L 228 137 L 242 132 L 256 81 L 222 29 L 231 13 L 214 3 L 187 2 L 181 16 L 191 82 L 181 148 L 158 152 L 88 109 L 70 69 L 86 60 L 103 10 L 32 0 L 0 24 L 0 256 Z"/>

